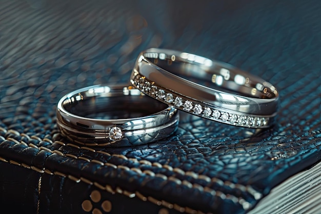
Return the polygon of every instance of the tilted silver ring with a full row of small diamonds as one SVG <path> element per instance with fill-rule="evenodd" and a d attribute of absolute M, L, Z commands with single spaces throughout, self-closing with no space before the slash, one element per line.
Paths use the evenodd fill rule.
<path fill-rule="evenodd" d="M 179 51 L 152 48 L 139 54 L 131 83 L 179 110 L 235 126 L 270 127 L 278 91 L 229 64 Z"/>

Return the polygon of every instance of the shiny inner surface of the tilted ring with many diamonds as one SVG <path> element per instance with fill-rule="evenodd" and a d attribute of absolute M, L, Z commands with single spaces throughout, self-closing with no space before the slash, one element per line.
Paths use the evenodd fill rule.
<path fill-rule="evenodd" d="M 180 61 L 179 57 L 175 57 L 176 60 L 173 61 L 170 56 L 164 60 L 151 57 L 146 57 L 146 59 L 185 80 L 215 90 L 260 99 L 273 99 L 277 94 L 272 85 L 271 87 L 264 85 L 269 83 L 226 63 L 215 62 L 206 58 L 204 59 L 207 60 L 207 64 Z"/>

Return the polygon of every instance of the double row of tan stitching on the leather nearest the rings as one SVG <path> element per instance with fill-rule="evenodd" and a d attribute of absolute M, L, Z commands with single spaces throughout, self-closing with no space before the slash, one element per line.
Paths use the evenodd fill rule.
<path fill-rule="evenodd" d="M 2 127 L 0 127 L 0 130 L 1 129 L 3 129 L 3 131 L 5 131 L 5 132 L 8 132 L 8 131 L 10 131 L 11 133 L 14 133 L 15 135 L 20 135 L 20 133 L 18 132 L 18 131 L 16 131 L 16 130 L 13 130 L 13 129 L 10 129 L 10 130 L 6 130 L 6 129 L 4 129 L 4 128 L 2 128 Z M 27 137 L 28 135 L 27 134 L 24 134 L 24 136 L 25 137 Z M 29 137 L 29 136 L 28 136 Z M 27 138 L 28 138 L 27 137 Z M 75 147 L 75 148 L 78 148 L 78 149 L 87 149 L 88 147 L 79 147 L 79 146 L 77 146 L 77 145 L 74 145 L 74 144 L 64 144 L 63 142 L 60 142 L 60 141 L 55 141 L 55 142 L 52 142 L 50 139 L 40 139 L 40 138 L 38 138 L 38 137 L 36 137 L 36 136 L 31 136 L 31 137 L 29 137 L 28 139 L 36 139 L 36 140 L 38 140 L 38 141 L 46 141 L 46 142 L 49 142 L 49 143 L 58 143 L 58 144 L 60 144 L 60 145 L 63 145 L 63 146 L 72 146 L 72 147 Z M 19 143 L 18 141 L 16 141 L 15 139 L 11 139 L 11 138 L 8 138 L 7 140 L 11 140 L 11 141 L 13 141 L 13 142 L 15 142 L 15 143 Z M 23 142 L 24 143 L 24 142 Z M 24 145 L 26 145 L 26 146 L 29 146 L 30 147 L 30 144 L 29 145 L 27 145 L 26 143 L 24 143 Z M 61 156 L 67 156 L 67 157 L 70 157 L 70 158 L 75 158 L 75 159 L 82 159 L 82 160 L 85 160 L 85 161 L 87 161 L 87 162 L 93 162 L 93 163 L 99 163 L 99 164 L 103 164 L 103 165 L 108 165 L 108 166 L 112 166 L 113 168 L 128 168 L 129 169 L 129 167 L 127 167 L 127 166 L 123 166 L 123 165 L 118 165 L 118 166 L 116 166 L 116 165 L 113 165 L 113 164 L 109 164 L 109 163 L 103 163 L 103 162 L 101 162 L 101 161 L 98 161 L 98 160 L 95 160 L 95 159 L 92 159 L 92 160 L 90 160 L 90 159 L 88 159 L 88 158 L 84 158 L 84 157 L 77 157 L 76 155 L 73 155 L 73 154 L 64 154 L 64 153 L 62 153 L 61 151 L 57 151 L 57 150 L 54 150 L 54 151 L 52 151 L 52 150 L 50 150 L 50 149 L 48 149 L 48 148 L 46 148 L 46 147 L 37 147 L 37 146 L 35 146 L 34 144 L 31 144 L 31 145 L 33 145 L 32 147 L 34 147 L 34 148 L 37 148 L 37 149 L 39 149 L 39 150 L 46 150 L 46 151 L 48 151 L 48 152 L 51 152 L 51 153 L 57 153 L 57 154 L 59 154 L 59 155 L 61 155 Z M 232 183 L 232 182 L 230 182 L 230 181 L 226 181 L 226 182 L 223 182 L 222 180 L 220 180 L 220 179 L 217 179 L 217 178 L 210 178 L 210 177 L 208 177 L 208 176 L 205 176 L 205 175 L 203 175 L 203 174 L 197 174 L 197 173 L 195 173 L 195 172 L 193 172 L 193 171 L 184 171 L 184 170 L 182 170 L 182 169 L 179 169 L 179 168 L 172 168 L 171 166 L 169 166 L 169 165 L 162 165 L 162 164 L 160 164 L 160 163 L 157 163 L 157 162 L 155 162 L 155 163 L 151 163 L 151 162 L 149 162 L 149 161 L 147 161 L 147 160 L 141 160 L 141 161 L 138 161 L 137 159 L 134 159 L 134 158 L 131 158 L 131 159 L 128 159 L 125 155 L 122 155 L 122 154 L 109 154 L 108 152 L 104 152 L 104 151 L 95 151 L 95 150 L 93 150 L 92 148 L 89 148 L 89 149 L 87 149 L 87 150 L 89 150 L 89 151 L 92 151 L 92 152 L 99 152 L 99 153 L 104 153 L 104 154 L 106 154 L 106 155 L 109 155 L 110 157 L 117 157 L 117 158 L 121 158 L 121 159 L 124 159 L 124 160 L 126 160 L 126 161 L 128 161 L 128 160 L 131 160 L 131 161 L 133 161 L 133 162 L 138 162 L 138 163 L 141 163 L 141 164 L 146 164 L 146 165 L 150 165 L 150 166 L 156 166 L 156 167 L 159 167 L 159 168 L 165 168 L 165 169 L 167 169 L 167 170 L 170 170 L 170 171 L 174 171 L 174 172 L 176 172 L 176 173 L 180 173 L 180 174 L 182 174 L 182 175 L 185 175 L 185 176 L 189 176 L 189 177 L 192 177 L 192 178 L 194 178 L 194 179 L 200 179 L 200 180 L 203 180 L 203 181 L 206 181 L 207 183 L 216 183 L 216 184 L 218 184 L 218 185 L 220 185 L 220 186 L 223 186 L 223 185 L 226 185 L 226 186 L 229 186 L 230 188 L 236 188 L 236 189 L 239 189 L 240 191 L 246 191 L 246 192 L 248 192 L 248 193 L 250 193 L 256 200 L 258 200 L 258 199 L 260 199 L 260 198 L 262 198 L 262 194 L 261 193 L 259 193 L 259 192 L 257 192 L 255 189 L 253 189 L 251 186 L 249 186 L 249 185 L 247 185 L 247 186 L 244 186 L 244 185 L 242 185 L 242 184 L 234 184 L 234 183 Z M 144 170 L 144 171 L 141 171 L 140 169 L 138 169 L 137 170 L 137 168 L 132 168 L 131 170 L 133 170 L 133 171 L 135 171 L 135 172 L 137 172 L 137 171 L 139 171 L 138 173 L 144 173 L 144 174 L 147 174 L 147 175 L 149 175 L 149 176 L 151 176 L 151 177 L 154 177 L 155 176 L 155 174 L 154 174 L 154 172 L 152 172 L 152 173 L 150 173 L 151 171 L 150 170 Z M 160 178 L 163 178 L 164 180 L 171 180 L 171 181 L 174 181 L 175 183 L 177 183 L 178 185 L 185 185 L 185 186 L 187 186 L 188 188 L 192 188 L 192 187 L 194 187 L 194 188 L 197 188 L 199 191 L 206 191 L 206 192 L 210 192 L 211 194 L 213 194 L 214 192 L 215 192 L 215 194 L 216 194 L 216 196 L 222 196 L 223 198 L 224 198 L 224 193 L 222 192 L 222 194 L 220 194 L 220 192 L 219 191 L 215 191 L 215 190 L 213 190 L 213 189 L 211 189 L 211 188 L 209 188 L 209 187 L 207 187 L 207 186 L 205 186 L 205 187 L 203 187 L 203 186 L 201 186 L 201 185 L 199 185 L 199 184 L 191 184 L 190 182 L 188 182 L 188 181 L 182 181 L 182 180 L 179 180 L 179 179 L 177 179 L 177 178 L 175 178 L 175 177 L 167 177 L 165 174 L 160 174 L 160 173 L 157 173 L 156 174 L 157 175 L 157 177 L 160 177 Z M 218 193 L 217 193 L 218 192 Z M 221 197 L 221 198 L 222 198 Z M 235 197 L 235 196 L 234 196 Z M 237 198 L 237 197 L 235 197 L 235 198 Z"/>

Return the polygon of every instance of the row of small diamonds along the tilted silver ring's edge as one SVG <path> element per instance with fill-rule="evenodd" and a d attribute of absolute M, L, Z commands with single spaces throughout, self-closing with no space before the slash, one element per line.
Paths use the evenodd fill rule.
<path fill-rule="evenodd" d="M 198 103 L 193 103 L 188 100 L 184 100 L 179 96 L 174 96 L 172 93 L 168 93 L 165 90 L 154 86 L 139 74 L 135 75 L 133 82 L 137 88 L 141 89 L 142 91 L 149 94 L 150 96 L 153 96 L 156 99 L 162 100 L 169 105 L 174 105 L 178 109 L 183 109 L 185 111 L 189 111 L 206 118 L 214 119 L 216 121 L 231 123 L 233 125 L 255 127 L 267 126 L 269 122 L 269 118 L 232 114 L 222 110 L 212 109 Z"/>

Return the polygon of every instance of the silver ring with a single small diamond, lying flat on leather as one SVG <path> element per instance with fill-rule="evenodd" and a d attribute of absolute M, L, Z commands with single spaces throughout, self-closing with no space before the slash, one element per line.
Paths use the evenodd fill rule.
<path fill-rule="evenodd" d="M 65 95 L 57 105 L 57 126 L 69 140 L 88 146 L 132 146 L 168 137 L 177 109 L 132 86 L 96 85 Z"/>

